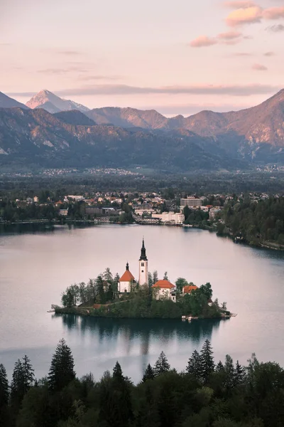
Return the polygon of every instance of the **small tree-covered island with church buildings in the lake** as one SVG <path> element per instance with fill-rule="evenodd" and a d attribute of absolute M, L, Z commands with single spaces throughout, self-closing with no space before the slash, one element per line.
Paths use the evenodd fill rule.
<path fill-rule="evenodd" d="M 219 305 L 212 300 L 212 287 L 205 283 L 197 287 L 185 278 L 175 284 L 168 280 L 165 272 L 158 279 L 157 271 L 148 271 L 148 258 L 144 239 L 138 260 L 138 280 L 131 273 L 129 263 L 121 277 L 112 275 L 106 268 L 104 273 L 89 282 L 70 285 L 62 293 L 62 307 L 54 305 L 58 314 L 68 313 L 94 317 L 117 318 L 162 318 L 162 319 L 226 319 L 234 316 L 226 310 L 226 302 Z"/>

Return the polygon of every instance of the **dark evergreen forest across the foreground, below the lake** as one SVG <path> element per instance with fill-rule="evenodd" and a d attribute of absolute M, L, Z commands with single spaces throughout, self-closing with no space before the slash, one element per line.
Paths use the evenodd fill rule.
<path fill-rule="evenodd" d="M 134 385 L 119 362 L 99 381 L 78 379 L 64 339 L 48 376 L 35 379 L 27 356 L 9 384 L 0 364 L 1 427 L 280 427 L 284 424 L 284 371 L 275 362 L 247 367 L 226 355 L 214 361 L 208 340 L 182 372 L 161 352 Z"/>

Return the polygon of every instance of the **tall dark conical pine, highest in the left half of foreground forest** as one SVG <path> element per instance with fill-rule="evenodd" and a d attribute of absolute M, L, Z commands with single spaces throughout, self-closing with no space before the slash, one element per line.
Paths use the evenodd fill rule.
<path fill-rule="evenodd" d="M 50 389 L 60 391 L 75 379 L 74 359 L 65 339 L 60 339 L 48 374 Z"/>

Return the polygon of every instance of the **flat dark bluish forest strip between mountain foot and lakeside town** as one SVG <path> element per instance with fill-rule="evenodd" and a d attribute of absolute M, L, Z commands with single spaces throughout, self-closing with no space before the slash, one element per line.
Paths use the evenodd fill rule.
<path fill-rule="evenodd" d="M 241 192 L 283 193 L 284 172 L 249 172 L 240 174 L 209 173 L 169 174 L 167 172 L 141 171 L 140 176 L 87 175 L 71 176 L 15 176 L 0 177 L 0 198 L 25 199 L 38 195 L 41 190 L 65 194 L 82 194 L 92 191 L 164 191 L 175 189 L 175 193 L 188 194 L 240 194 Z"/>

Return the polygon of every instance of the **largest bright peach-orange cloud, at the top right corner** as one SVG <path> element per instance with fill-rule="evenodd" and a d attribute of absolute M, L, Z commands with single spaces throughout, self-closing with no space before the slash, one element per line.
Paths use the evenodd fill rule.
<path fill-rule="evenodd" d="M 284 6 L 270 7 L 262 9 L 261 6 L 241 7 L 232 11 L 226 17 L 228 26 L 240 26 L 245 23 L 258 23 L 263 19 L 275 20 L 284 18 Z"/>

